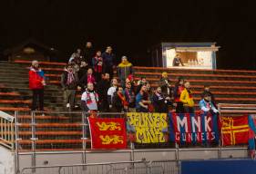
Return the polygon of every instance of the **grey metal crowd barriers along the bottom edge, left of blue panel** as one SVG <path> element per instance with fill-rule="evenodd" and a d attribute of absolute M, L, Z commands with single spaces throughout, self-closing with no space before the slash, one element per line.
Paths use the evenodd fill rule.
<path fill-rule="evenodd" d="M 167 165 L 177 161 L 120 161 L 63 166 L 24 168 L 21 174 L 178 174 L 179 168 L 169 169 Z"/>

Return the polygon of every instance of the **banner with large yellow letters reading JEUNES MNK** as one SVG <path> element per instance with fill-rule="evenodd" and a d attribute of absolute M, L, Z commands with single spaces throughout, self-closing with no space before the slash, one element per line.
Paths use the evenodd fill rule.
<path fill-rule="evenodd" d="M 135 133 L 137 143 L 167 142 L 166 113 L 128 112 L 128 131 Z"/>

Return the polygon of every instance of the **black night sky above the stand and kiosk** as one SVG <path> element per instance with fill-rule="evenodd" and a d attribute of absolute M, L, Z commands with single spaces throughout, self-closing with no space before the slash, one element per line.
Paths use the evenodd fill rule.
<path fill-rule="evenodd" d="M 218 68 L 256 70 L 256 5 L 234 2 L 6 0 L 0 2 L 0 48 L 33 37 L 68 57 L 90 40 L 145 65 L 156 43 L 217 42 Z"/>

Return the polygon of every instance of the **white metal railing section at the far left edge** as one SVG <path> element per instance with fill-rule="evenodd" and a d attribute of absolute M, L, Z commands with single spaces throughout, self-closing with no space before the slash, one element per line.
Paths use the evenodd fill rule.
<path fill-rule="evenodd" d="M 0 144 L 8 149 L 14 149 L 15 142 L 15 117 L 0 111 Z"/>

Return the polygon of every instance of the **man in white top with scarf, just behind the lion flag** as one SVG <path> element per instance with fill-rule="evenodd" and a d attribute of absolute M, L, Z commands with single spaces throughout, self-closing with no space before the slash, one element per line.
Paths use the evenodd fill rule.
<path fill-rule="evenodd" d="M 97 92 L 94 91 L 94 84 L 92 82 L 87 83 L 87 89 L 83 92 L 81 101 L 83 111 L 97 111 L 98 95 Z"/>

